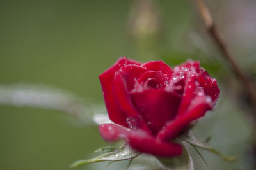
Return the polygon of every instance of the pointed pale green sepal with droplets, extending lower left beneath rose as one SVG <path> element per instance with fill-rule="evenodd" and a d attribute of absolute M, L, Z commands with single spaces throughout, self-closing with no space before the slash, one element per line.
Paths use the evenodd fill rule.
<path fill-rule="evenodd" d="M 104 153 L 93 159 L 79 160 L 77 162 L 74 162 L 74 164 L 72 164 L 70 167 L 79 167 L 79 166 L 83 166 L 83 165 L 94 163 L 94 162 L 104 162 L 104 161 L 115 162 L 120 160 L 129 160 L 129 159 L 133 159 L 134 157 L 137 157 L 138 155 L 140 155 L 140 153 L 132 150 L 129 146 L 124 145 L 124 146 L 121 146 L 120 148 L 116 148 L 116 150 L 113 150 L 113 152 Z"/>

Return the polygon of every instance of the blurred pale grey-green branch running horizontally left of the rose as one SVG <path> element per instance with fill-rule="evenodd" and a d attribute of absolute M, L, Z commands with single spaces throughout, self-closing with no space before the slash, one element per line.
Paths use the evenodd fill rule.
<path fill-rule="evenodd" d="M 86 124 L 93 122 L 83 99 L 65 90 L 43 85 L 0 85 L 0 104 L 60 110 Z"/>

